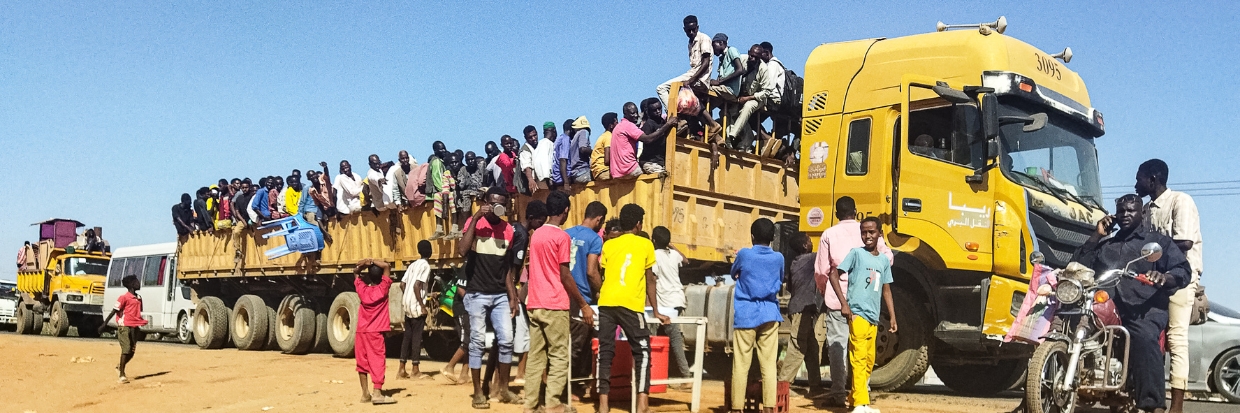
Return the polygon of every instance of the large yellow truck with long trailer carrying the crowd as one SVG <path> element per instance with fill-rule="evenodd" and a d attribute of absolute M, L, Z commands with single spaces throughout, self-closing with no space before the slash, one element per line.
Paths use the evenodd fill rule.
<path fill-rule="evenodd" d="M 712 170 L 706 145 L 668 139 L 667 176 L 574 186 L 569 222 L 596 200 L 613 215 L 639 203 L 647 227 L 668 227 L 692 262 L 682 270 L 691 284 L 686 315 L 711 320 L 706 337 L 687 340 L 706 340 L 722 355 L 730 345 L 732 288 L 702 282 L 728 273 L 750 243 L 753 220 L 817 237 L 836 222 L 836 198 L 851 196 L 862 216 L 883 220 L 895 251 L 900 330 L 879 337 L 870 384 L 911 386 L 932 365 L 954 389 L 1001 391 L 1021 377 L 1032 351 L 1002 341 L 1025 294 L 1029 257 L 1042 252 L 1047 263 L 1065 264 L 1105 213 L 1094 148 L 1101 113 L 1081 78 L 1056 61 L 1070 56 L 1004 36 L 1004 26 L 821 45 L 805 67 L 796 170 L 740 153 Z M 516 210 L 527 201 L 518 198 Z M 200 300 L 196 339 L 208 349 L 229 335 L 247 349 L 273 347 L 252 336 L 267 334 L 351 355 L 353 263 L 374 257 L 402 270 L 433 229 L 425 206 L 350 216 L 326 224 L 335 242 L 317 262 L 267 260 L 262 249 L 281 244 L 274 238 L 242 237 L 234 259 L 226 234 L 190 236 L 179 269 Z M 453 251 L 451 241 L 435 243 L 436 280 L 459 269 Z M 455 337 L 438 330 L 451 319 L 441 311 L 428 322 L 428 351 L 450 353 Z M 715 363 L 708 358 L 707 368 L 730 366 Z"/>

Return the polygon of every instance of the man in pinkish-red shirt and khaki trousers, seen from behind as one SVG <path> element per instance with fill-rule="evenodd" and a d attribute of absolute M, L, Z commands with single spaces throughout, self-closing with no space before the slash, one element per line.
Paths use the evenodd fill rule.
<path fill-rule="evenodd" d="M 528 213 L 534 213 L 531 202 Z M 568 195 L 553 191 L 547 195 L 547 222 L 529 237 L 529 355 L 526 363 L 526 386 L 542 383 L 546 391 L 526 391 L 526 412 L 539 406 L 548 413 L 564 412 L 560 394 L 568 388 L 569 299 L 582 308 L 587 325 L 594 325 L 594 311 L 577 288 L 569 264 L 573 239 L 559 226 L 568 218 Z M 528 216 L 527 216 L 528 217 Z M 543 373 L 547 380 L 543 381 Z M 537 384 L 536 384 L 537 386 Z"/>

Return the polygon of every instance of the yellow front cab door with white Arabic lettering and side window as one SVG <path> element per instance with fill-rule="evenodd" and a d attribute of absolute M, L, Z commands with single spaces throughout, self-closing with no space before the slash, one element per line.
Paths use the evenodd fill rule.
<path fill-rule="evenodd" d="M 981 113 L 940 98 L 935 84 L 916 76 L 903 82 L 894 231 L 934 248 L 946 268 L 990 272 L 993 196 L 985 179 L 966 181 L 986 160 Z"/>

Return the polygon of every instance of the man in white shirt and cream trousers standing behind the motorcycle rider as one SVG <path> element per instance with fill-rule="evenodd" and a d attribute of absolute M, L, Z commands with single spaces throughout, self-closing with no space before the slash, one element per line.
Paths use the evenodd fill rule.
<path fill-rule="evenodd" d="M 1192 282 L 1171 296 L 1167 308 L 1167 352 L 1171 353 L 1171 411 L 1184 411 L 1184 389 L 1188 387 L 1188 325 L 1193 301 L 1202 278 L 1202 227 L 1197 203 L 1188 193 L 1167 189 L 1167 162 L 1151 159 L 1137 167 L 1140 196 L 1148 196 L 1145 206 L 1146 224 L 1176 242 L 1193 268 Z"/>

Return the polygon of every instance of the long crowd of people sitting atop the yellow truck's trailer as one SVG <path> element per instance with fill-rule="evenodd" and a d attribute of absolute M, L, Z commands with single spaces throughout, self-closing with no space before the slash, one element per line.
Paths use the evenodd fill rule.
<path fill-rule="evenodd" d="M 362 211 L 403 210 L 429 202 L 436 218 L 432 239 L 460 238 L 460 223 L 491 186 L 534 195 L 552 189 L 572 191 L 573 185 L 590 181 L 666 175 L 667 139 L 673 127 L 678 133 L 672 139 L 709 143 L 712 167 L 719 165 L 720 148 L 758 149 L 761 155 L 795 164 L 795 131 L 781 127 L 785 122 L 775 122 L 771 131 L 763 127 L 768 118 L 799 110 L 781 105 L 792 100 L 785 94 L 800 92 L 785 84 L 785 78 L 795 74 L 771 55 L 774 46 L 755 43 L 748 55 L 740 55 L 728 46 L 728 35 L 715 33 L 712 38 L 702 33 L 696 16 L 684 17 L 684 33 L 689 38 L 688 72 L 656 87 L 657 97 L 640 105 L 626 102 L 619 114 L 603 114 L 603 131 L 593 144 L 595 128 L 583 115 L 559 125 L 543 123 L 541 138 L 538 128 L 527 125 L 521 141 L 503 135 L 498 144 L 487 141 L 481 155 L 449 150 L 443 141 L 435 141 L 425 164 L 419 165 L 403 150 L 397 162 L 371 155 L 365 175 L 342 160 L 335 177 L 326 162 L 319 162 L 305 176 L 294 169 L 286 176 L 265 176 L 257 182 L 249 177 L 221 179 L 200 187 L 193 196 L 182 193 L 181 202 L 172 206 L 172 224 L 179 236 L 239 232 L 289 216 L 300 215 L 309 223 L 321 224 Z M 718 71 L 712 78 L 714 66 Z M 692 108 L 678 107 L 680 117 L 665 110 L 677 104 L 667 102 L 673 83 L 684 86 L 678 91 L 682 97 L 693 95 L 701 102 Z M 712 115 L 714 108 L 719 109 L 719 120 Z M 730 119 L 727 130 L 723 119 Z"/>

